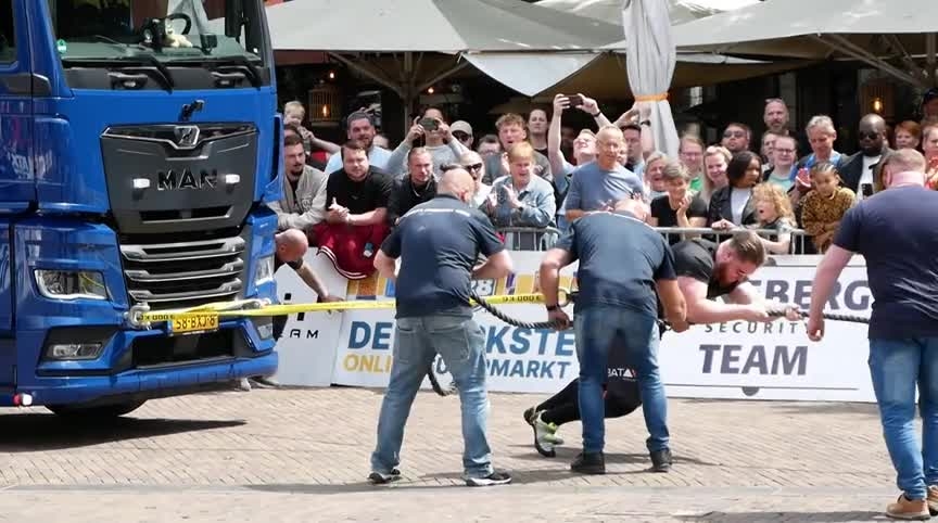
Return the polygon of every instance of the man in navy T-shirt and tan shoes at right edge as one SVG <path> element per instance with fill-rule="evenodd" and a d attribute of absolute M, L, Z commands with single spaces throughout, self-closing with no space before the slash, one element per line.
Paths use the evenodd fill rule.
<path fill-rule="evenodd" d="M 873 314 L 870 374 L 883 435 L 902 495 L 897 519 L 938 513 L 938 192 L 925 189 L 925 157 L 912 149 L 882 162 L 887 189 L 844 215 L 811 285 L 808 335 L 824 336 L 824 305 L 854 253 L 866 260 Z M 915 385 L 922 448 L 915 436 Z"/>

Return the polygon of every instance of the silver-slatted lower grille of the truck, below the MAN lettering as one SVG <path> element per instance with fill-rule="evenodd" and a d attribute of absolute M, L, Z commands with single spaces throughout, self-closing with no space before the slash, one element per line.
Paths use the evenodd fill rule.
<path fill-rule="evenodd" d="M 174 243 L 122 244 L 124 278 L 132 304 L 151 309 L 194 307 L 234 299 L 245 279 L 242 235 Z"/>

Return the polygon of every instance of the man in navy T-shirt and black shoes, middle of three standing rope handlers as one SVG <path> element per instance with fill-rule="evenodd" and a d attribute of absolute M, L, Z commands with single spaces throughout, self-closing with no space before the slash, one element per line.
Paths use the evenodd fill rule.
<path fill-rule="evenodd" d="M 637 373 L 651 461 L 656 465 L 670 461 L 667 398 L 657 359 L 658 298 L 677 332 L 687 329 L 686 310 L 671 247 L 645 224 L 647 215 L 647 205 L 636 200 L 620 201 L 613 213 L 588 214 L 571 225 L 541 264 L 548 317 L 558 329 L 565 329 L 570 318 L 558 306 L 559 272 L 573 262 L 580 263 L 580 291 L 573 310 L 583 452 L 570 465 L 575 472 L 606 472 L 603 385 L 609 350 L 617 339 L 621 345 L 616 349 L 626 354 L 629 366 Z"/>

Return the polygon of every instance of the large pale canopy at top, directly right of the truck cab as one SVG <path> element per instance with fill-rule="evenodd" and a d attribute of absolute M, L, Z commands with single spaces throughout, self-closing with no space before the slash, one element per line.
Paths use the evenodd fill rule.
<path fill-rule="evenodd" d="M 267 20 L 274 49 L 293 51 L 584 50 L 622 37 L 617 24 L 518 0 L 293 0 Z"/>

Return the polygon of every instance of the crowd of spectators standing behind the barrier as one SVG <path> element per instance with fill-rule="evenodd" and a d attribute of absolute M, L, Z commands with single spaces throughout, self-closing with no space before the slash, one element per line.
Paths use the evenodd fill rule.
<path fill-rule="evenodd" d="M 454 167 L 476 179 L 473 205 L 523 250 L 543 248 L 585 213 L 633 197 L 649 205 L 649 225 L 667 228 L 672 243 L 750 228 L 771 253 L 824 253 L 845 213 L 883 190 L 892 148 L 923 152 L 929 187 L 938 189 L 938 89 L 925 94 L 923 122 L 896 125 L 891 148 L 886 122 L 864 116 L 860 151 L 849 156 L 834 150 L 831 117 L 810 118 L 799 140 L 785 102 L 770 99 L 758 141 L 731 123 L 719 143 L 682 136 L 677 157 L 669 157 L 656 149 L 649 107 L 638 103 L 610 120 L 594 99 L 557 94 L 553 111 L 504 114 L 495 133 L 478 138 L 469 123 L 428 107 L 392 150 L 366 112 L 345 118 L 347 141 L 335 144 L 306 129 L 303 105 L 290 102 L 284 195 L 271 207 L 281 230 L 302 229 L 340 273 L 357 279 L 373 271 L 371 258 L 401 217 L 434 197 L 436 179 Z M 595 130 L 565 126 L 570 111 L 592 116 Z"/>

